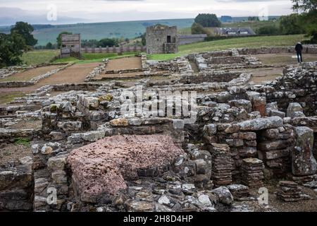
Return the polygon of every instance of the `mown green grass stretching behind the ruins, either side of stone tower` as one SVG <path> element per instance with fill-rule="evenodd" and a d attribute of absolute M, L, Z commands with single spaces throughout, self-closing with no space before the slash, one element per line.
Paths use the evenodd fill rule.
<path fill-rule="evenodd" d="M 304 40 L 304 35 L 278 35 L 278 36 L 259 36 L 259 37 L 238 37 L 228 40 L 216 40 L 211 42 L 199 42 L 194 44 L 185 44 L 179 47 L 177 54 L 152 54 L 149 59 L 153 60 L 168 60 L 182 55 L 194 52 L 206 52 L 213 50 L 224 50 L 242 47 L 273 47 L 273 46 L 292 46 L 295 43 Z M 120 57 L 132 57 L 136 53 L 127 54 L 82 54 L 83 60 L 73 57 L 57 59 L 53 63 L 75 62 L 77 64 L 85 64 L 99 62 L 102 59 L 116 59 Z M 27 52 L 23 54 L 23 61 L 27 64 L 42 64 L 48 63 L 58 55 L 58 50 L 40 50 Z"/>

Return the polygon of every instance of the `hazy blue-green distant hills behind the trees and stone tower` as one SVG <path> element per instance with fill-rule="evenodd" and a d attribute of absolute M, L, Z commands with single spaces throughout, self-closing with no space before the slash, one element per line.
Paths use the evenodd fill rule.
<path fill-rule="evenodd" d="M 235 22 L 247 20 L 247 17 L 233 17 Z M 34 35 L 39 45 L 48 42 L 55 43 L 60 32 L 68 31 L 80 33 L 82 40 L 101 40 L 105 37 L 134 38 L 142 35 L 146 28 L 155 24 L 178 26 L 179 29 L 190 28 L 194 23 L 193 18 L 187 19 L 166 19 L 166 20 L 139 20 L 108 23 L 76 23 L 68 25 L 33 25 Z M 0 32 L 10 32 L 11 26 L 0 27 Z"/>

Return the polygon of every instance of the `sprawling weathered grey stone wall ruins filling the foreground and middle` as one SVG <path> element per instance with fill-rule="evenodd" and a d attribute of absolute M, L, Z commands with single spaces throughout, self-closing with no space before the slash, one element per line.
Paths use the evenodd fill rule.
<path fill-rule="evenodd" d="M 278 200 L 309 199 L 302 189 L 317 191 L 317 62 L 250 85 L 251 75 L 239 70 L 263 65 L 247 51 L 256 49 L 171 61 L 143 56 L 142 72 L 168 71 L 173 79 L 48 85 L 1 107 L 2 147 L 28 138 L 32 153 L 1 165 L 0 210 L 275 210 L 261 208 L 254 194 L 274 181 Z M 141 107 L 164 102 L 163 114 L 123 113 L 137 104 L 122 94 L 140 86 Z M 63 93 L 50 97 L 52 90 Z M 180 103 L 159 92 L 178 91 L 197 92 L 196 104 L 187 115 L 166 115 Z"/>

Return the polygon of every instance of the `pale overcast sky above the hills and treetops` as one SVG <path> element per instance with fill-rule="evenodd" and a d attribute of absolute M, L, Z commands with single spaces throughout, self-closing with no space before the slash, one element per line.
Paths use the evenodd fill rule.
<path fill-rule="evenodd" d="M 280 16 L 292 12 L 290 0 L 0 0 L 0 18 L 15 16 L 12 8 L 22 10 L 17 16 L 46 17 L 51 4 L 57 8 L 57 18 L 80 18 L 85 22 L 194 18 L 198 13 Z"/>

